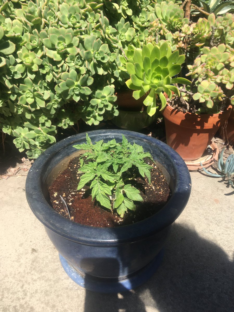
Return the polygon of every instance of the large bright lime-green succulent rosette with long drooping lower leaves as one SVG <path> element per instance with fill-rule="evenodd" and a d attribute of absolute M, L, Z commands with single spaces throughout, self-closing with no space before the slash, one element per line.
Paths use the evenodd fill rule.
<path fill-rule="evenodd" d="M 147 113 L 150 116 L 158 110 L 158 97 L 161 100 L 161 110 L 165 108 L 167 101 L 163 92 L 166 92 L 169 99 L 172 96 L 171 91 L 180 94 L 174 83 L 191 83 L 185 78 L 172 78 L 181 71 L 184 58 L 184 55 L 179 55 L 178 50 L 172 53 L 168 43 L 163 42 L 160 46 L 147 43 L 142 49 L 134 51 L 133 60 L 127 61 L 126 69 L 130 79 L 126 85 L 129 89 L 135 90 L 133 97 L 136 100 L 148 94 L 143 103 L 147 106 Z"/>

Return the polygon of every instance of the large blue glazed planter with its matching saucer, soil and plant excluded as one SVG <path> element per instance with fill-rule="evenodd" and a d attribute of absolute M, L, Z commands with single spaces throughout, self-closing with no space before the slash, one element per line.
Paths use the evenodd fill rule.
<path fill-rule="evenodd" d="M 88 134 L 92 142 L 114 138 L 121 142 L 124 134 L 130 142 L 149 151 L 171 188 L 172 197 L 167 204 L 141 222 L 111 228 L 84 226 L 55 212 L 49 204 L 48 187 L 69 160 L 77 156 L 79 151 L 72 146 L 86 142 L 86 133 L 54 144 L 37 158 L 27 176 L 27 201 L 45 226 L 72 280 L 93 291 L 130 290 L 146 281 L 160 264 L 171 226 L 188 202 L 190 174 L 182 158 L 157 139 L 124 130 L 97 130 Z"/>

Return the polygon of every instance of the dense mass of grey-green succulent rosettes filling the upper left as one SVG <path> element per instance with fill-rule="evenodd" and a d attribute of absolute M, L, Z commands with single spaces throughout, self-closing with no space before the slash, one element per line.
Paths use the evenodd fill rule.
<path fill-rule="evenodd" d="M 58 127 L 79 119 L 97 125 L 118 115 L 115 88 L 128 78 L 119 68 L 121 49 L 143 44 L 154 5 L 1 1 L 0 130 L 36 158 L 56 141 Z"/>

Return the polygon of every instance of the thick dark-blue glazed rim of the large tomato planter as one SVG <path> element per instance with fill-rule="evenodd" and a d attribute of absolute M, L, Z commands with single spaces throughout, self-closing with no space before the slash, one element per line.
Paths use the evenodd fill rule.
<path fill-rule="evenodd" d="M 149 236 L 149 234 L 159 232 L 163 228 L 170 226 L 183 211 L 191 192 L 190 174 L 179 154 L 167 144 L 138 132 L 128 130 L 94 130 L 87 133 L 91 138 L 93 134 L 98 135 L 100 139 L 103 139 L 105 134 L 111 133 L 113 137 L 124 134 L 128 136 L 128 139 L 133 138 L 134 140 L 134 137 L 137 137 L 138 139 L 148 141 L 150 145 L 154 146 L 156 144 L 157 149 L 162 151 L 164 156 L 167 156 L 170 166 L 173 167 L 175 189 L 170 200 L 153 216 L 143 221 L 120 227 L 91 227 L 70 221 L 59 215 L 44 198 L 41 189 L 42 178 L 51 159 L 58 157 L 59 153 L 62 150 L 66 150 L 68 146 L 77 144 L 78 138 L 86 142 L 86 132 L 84 132 L 63 139 L 49 147 L 35 160 L 28 172 L 26 179 L 27 201 L 32 212 L 41 223 L 64 238 L 92 246 L 115 246 L 132 240 L 141 240 Z M 95 140 L 97 141 L 97 139 Z M 48 174 L 49 172 L 47 176 Z"/>

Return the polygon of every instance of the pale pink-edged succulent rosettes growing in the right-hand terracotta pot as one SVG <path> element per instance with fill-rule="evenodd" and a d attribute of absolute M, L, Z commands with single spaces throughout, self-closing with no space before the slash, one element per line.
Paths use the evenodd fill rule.
<path fill-rule="evenodd" d="M 198 91 L 193 99 L 203 103 L 198 112 L 219 112 L 225 98 L 234 104 L 233 50 L 225 44 L 203 47 L 201 56 L 188 69 L 187 76 L 192 77 Z"/>

